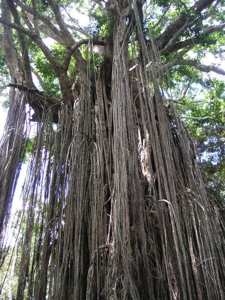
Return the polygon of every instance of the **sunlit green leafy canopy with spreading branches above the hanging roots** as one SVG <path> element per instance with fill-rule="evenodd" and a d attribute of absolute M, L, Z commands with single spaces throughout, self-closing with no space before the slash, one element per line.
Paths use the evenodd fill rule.
<path fill-rule="evenodd" d="M 16 80 L 17 84 L 32 88 L 32 97 L 36 92 L 35 97 L 38 98 L 38 101 L 39 98 L 43 101 L 43 95 L 39 93 L 41 91 L 41 94 L 44 93 L 49 97 L 50 104 L 60 103 L 63 93 L 66 95 L 66 91 L 63 92 L 66 86 L 70 87 L 75 81 L 76 85 L 80 85 L 81 74 L 84 79 L 92 74 L 91 84 L 95 85 L 93 73 L 97 76 L 101 61 L 109 56 L 109 53 L 104 51 L 104 45 L 113 37 L 114 10 L 107 9 L 110 6 L 109 2 L 106 6 L 105 1 L 90 3 L 58 1 L 56 2 L 58 8 L 55 5 L 55 10 L 52 8 L 54 4 L 46 1 L 38 1 L 34 7 L 29 1 L 10 3 L 2 1 L 1 4 L 2 25 L 10 22 L 8 28 L 15 29 L 14 31 L 10 29 L 10 34 L 9 29 L 7 29 L 8 31 L 4 29 L 5 33 L 2 32 L 1 35 L 2 89 L 9 83 L 10 70 L 13 70 L 14 81 L 12 80 L 12 84 L 15 84 Z M 145 5 L 143 6 L 143 4 Z M 210 3 L 197 1 L 195 4 L 190 1 L 151 1 L 149 3 L 140 1 L 139 4 L 140 25 L 145 35 L 145 43 L 146 45 L 152 43 L 149 40 L 149 33 L 151 33 L 161 56 L 159 67 L 164 73 L 167 71 L 167 99 L 173 98 L 177 101 L 177 111 L 182 117 L 189 118 L 188 124 L 192 128 L 195 138 L 197 140 L 199 138 L 200 152 L 203 148 L 207 148 L 210 140 L 211 134 L 205 135 L 206 131 L 208 132 L 207 127 L 217 128 L 219 126 L 218 128 L 220 128 L 222 126 L 223 128 L 224 126 L 223 79 L 216 79 L 214 76 L 210 78 L 203 73 L 214 72 L 225 75 L 224 70 L 213 61 L 215 58 L 220 62 L 224 54 L 223 4 L 223 1 Z M 6 9 L 6 7 L 8 8 Z M 10 11 L 8 15 L 7 10 Z M 58 11 L 57 18 L 56 10 Z M 76 17 L 76 12 L 79 13 L 79 18 Z M 36 21 L 33 20 L 34 14 Z M 84 17 L 86 16 L 85 23 L 87 24 L 82 23 L 82 14 Z M 87 22 L 87 20 L 89 21 Z M 140 41 L 132 13 L 128 14 L 127 22 L 127 28 L 129 26 L 131 28 L 131 24 L 134 27 L 128 45 L 131 67 L 135 55 L 131 45 L 132 39 L 135 40 L 136 51 L 140 49 Z M 65 34 L 62 33 L 64 31 Z M 47 43 L 47 47 L 44 43 Z M 4 44 L 6 45 L 4 46 Z M 11 48 L 8 51 L 10 45 L 13 44 L 15 50 Z M 211 56 L 208 56 L 209 54 Z M 202 64 L 201 60 L 205 55 L 212 58 L 211 64 Z M 14 70 L 14 63 L 17 59 L 20 60 L 20 65 L 16 65 Z M 85 66 L 87 61 L 89 61 L 89 70 Z M 20 78 L 17 82 L 15 78 L 17 78 L 16 76 L 21 77 L 19 75 L 21 67 L 24 71 L 23 76 L 26 78 Z M 33 78 L 34 75 L 36 76 L 35 84 L 32 74 Z M 168 87 L 170 87 L 169 90 Z M 200 97 L 196 97 L 196 91 L 199 89 L 202 89 Z M 69 106 L 73 106 L 73 95 L 70 97 L 72 100 Z M 68 99 L 64 101 L 69 103 Z M 5 101 L 4 105 L 7 103 L 8 101 Z M 36 114 L 40 112 L 37 111 L 35 104 L 32 104 L 32 107 L 35 108 L 35 120 Z M 72 108 L 70 107 L 70 109 Z M 197 119 L 194 120 L 191 117 Z M 57 117 L 55 122 L 57 122 Z M 213 132 L 217 133 L 221 130 L 222 133 L 218 139 L 216 137 L 214 139 L 218 143 L 220 140 L 223 143 L 223 129 L 213 129 Z M 205 136 L 204 139 L 203 136 Z M 202 143 L 205 143 L 206 146 L 200 146 Z M 209 157 L 205 161 L 205 171 L 211 186 L 214 185 L 214 188 L 224 195 L 222 184 L 224 168 L 221 161 L 223 150 L 217 150 L 214 149 L 212 152 L 214 156 L 217 156 L 216 161 L 211 162 Z M 218 153 L 220 155 L 217 155 Z M 220 167 L 218 165 L 217 168 L 215 167 L 217 164 L 222 165 Z M 212 169 L 214 169 L 214 175 L 210 173 Z M 212 184 L 211 176 L 219 177 L 219 182 L 216 184 L 216 180 L 213 180 L 214 184 Z"/>

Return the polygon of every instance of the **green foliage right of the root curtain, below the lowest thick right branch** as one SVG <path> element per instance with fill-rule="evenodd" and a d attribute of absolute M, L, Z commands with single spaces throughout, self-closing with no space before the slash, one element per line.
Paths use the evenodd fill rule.
<path fill-rule="evenodd" d="M 174 68 L 169 76 L 178 113 L 196 118 L 184 120 L 196 140 L 202 174 L 206 173 L 207 184 L 224 197 L 225 84 L 188 66 Z M 192 85 L 185 97 L 179 99 L 184 89 L 182 82 L 188 81 Z"/>

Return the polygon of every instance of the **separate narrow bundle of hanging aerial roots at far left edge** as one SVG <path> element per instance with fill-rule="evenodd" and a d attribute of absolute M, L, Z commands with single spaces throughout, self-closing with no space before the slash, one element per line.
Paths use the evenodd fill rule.
<path fill-rule="evenodd" d="M 10 107 L 0 146 L 0 243 L 1 249 L 11 214 L 11 205 L 26 151 L 29 127 L 26 124 L 26 94 L 10 91 Z M 1 261 L 1 250 L 0 250 Z"/>

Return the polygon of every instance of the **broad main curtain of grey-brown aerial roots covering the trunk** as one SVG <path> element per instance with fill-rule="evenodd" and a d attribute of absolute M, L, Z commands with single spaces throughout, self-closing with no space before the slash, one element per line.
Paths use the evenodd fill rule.
<path fill-rule="evenodd" d="M 73 120 L 67 106 L 56 128 L 54 110 L 43 113 L 16 298 L 224 299 L 224 204 L 205 190 L 193 137 L 164 104 L 158 53 L 135 3 L 142 58 L 129 71 L 118 5 L 110 85 L 103 62 Z"/>

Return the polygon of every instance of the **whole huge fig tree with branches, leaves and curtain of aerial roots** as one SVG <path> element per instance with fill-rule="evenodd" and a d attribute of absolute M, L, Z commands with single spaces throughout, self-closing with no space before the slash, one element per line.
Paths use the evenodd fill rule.
<path fill-rule="evenodd" d="M 1 1 L 11 76 L 2 244 L 27 106 L 37 123 L 16 299 L 224 299 L 224 201 L 205 186 L 180 104 L 166 97 L 183 82 L 184 99 L 199 71 L 225 75 L 200 61 L 207 48 L 222 53 L 223 1 L 95 0 L 85 28 L 73 17 L 84 5 Z"/>

